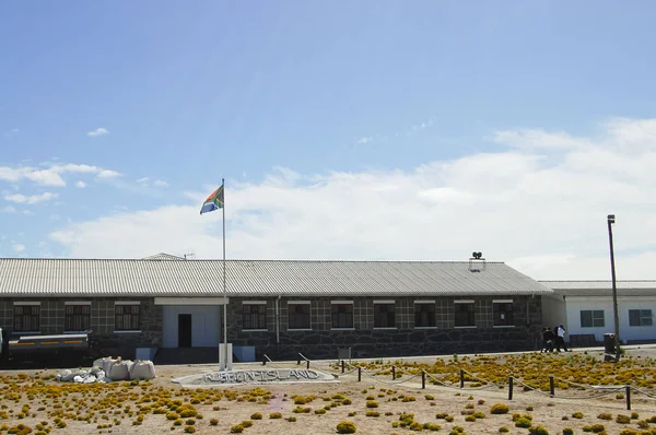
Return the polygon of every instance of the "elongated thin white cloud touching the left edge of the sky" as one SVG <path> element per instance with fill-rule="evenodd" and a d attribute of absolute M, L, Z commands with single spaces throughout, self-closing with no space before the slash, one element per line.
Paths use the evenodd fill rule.
<path fill-rule="evenodd" d="M 19 183 L 30 180 L 40 186 L 65 187 L 65 174 L 95 174 L 98 178 L 117 177 L 120 173 L 92 165 L 55 164 L 46 168 L 33 166 L 0 166 L 0 180 Z"/>

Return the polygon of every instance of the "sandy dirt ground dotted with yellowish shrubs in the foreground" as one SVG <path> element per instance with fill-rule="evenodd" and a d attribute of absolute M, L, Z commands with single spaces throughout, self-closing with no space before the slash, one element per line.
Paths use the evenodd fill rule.
<path fill-rule="evenodd" d="M 656 356 L 656 350 L 630 352 L 645 357 Z M 565 355 L 554 357 L 565 357 Z M 235 368 L 259 369 L 262 366 L 261 364 L 249 364 L 238 365 Z M 267 368 L 298 368 L 298 366 L 295 363 L 278 363 L 269 364 Z M 216 367 L 214 366 L 159 366 L 156 367 L 157 377 L 152 383 L 140 383 L 140 385 L 112 383 L 116 385 L 96 385 L 95 387 L 58 383 L 54 379 L 44 380 L 48 375 L 56 374 L 57 371 L 23 371 L 21 373 L 24 375 L 21 375 L 20 378 L 19 372 L 2 372 L 0 373 L 2 376 L 0 387 L 4 390 L 0 395 L 4 397 L 0 396 L 2 397 L 0 407 L 4 414 L 0 412 L 0 433 L 3 433 L 2 430 L 7 431 L 19 424 L 30 426 L 35 433 L 38 431 L 35 427 L 37 423 L 43 422 L 46 427 L 44 433 L 49 426 L 52 434 L 143 434 L 148 432 L 185 433 L 185 431 L 187 433 L 195 431 L 201 434 L 226 434 L 231 433 L 231 427 L 249 420 L 253 425 L 244 430 L 246 434 L 335 434 L 337 424 L 347 420 L 355 424 L 358 434 L 410 434 L 415 432 L 409 427 L 393 427 L 393 423 L 399 421 L 401 413 L 413 413 L 414 422 L 438 424 L 441 430 L 436 433 L 448 434 L 456 426 L 460 426 L 464 428 L 462 433 L 467 434 L 499 434 L 500 427 L 506 426 L 509 434 L 527 434 L 528 430 L 516 427 L 512 419 L 513 413 L 520 413 L 529 414 L 532 425 L 543 426 L 549 434 L 562 434 L 565 427 L 571 427 L 574 430 L 573 433 L 581 434 L 584 432 L 584 426 L 598 424 L 604 425 L 607 434 L 620 434 L 626 428 L 633 428 L 637 434 L 640 433 L 639 421 L 656 415 L 656 400 L 637 393 L 632 395 L 632 409 L 629 411 L 625 399 L 617 397 L 616 391 L 605 397 L 598 397 L 599 393 L 589 390 L 567 391 L 566 393 L 557 391 L 555 397 L 550 398 L 547 393 L 524 391 L 520 386 L 515 386 L 513 400 L 508 400 L 507 389 L 497 387 L 459 389 L 426 384 L 426 388 L 422 389 L 420 377 L 410 379 L 410 376 L 403 376 L 400 379 L 391 380 L 391 377 L 388 376 L 372 377 L 364 374 L 362 381 L 358 381 L 356 372 L 341 375 L 340 371 L 331 367 L 328 362 L 313 363 L 312 368 L 337 374 L 339 381 L 309 385 L 222 386 L 208 388 L 210 391 L 206 391 L 202 396 L 201 389 L 185 389 L 174 384 L 172 379 L 215 372 Z M 36 385 L 32 384 L 34 379 L 36 379 Z M 32 387 L 27 388 L 30 385 Z M 270 391 L 270 398 L 266 403 L 259 399 L 248 401 L 248 398 L 251 397 L 248 392 L 258 387 Z M 225 393 L 220 400 L 216 400 L 215 396 L 211 396 L 215 391 L 224 392 L 226 390 L 233 391 L 234 400 L 229 400 L 229 395 Z M 189 419 L 183 419 L 184 423 L 180 425 L 173 425 L 173 421 L 167 420 L 165 414 L 154 414 L 148 411 L 140 423 L 133 423 L 138 420 L 137 407 L 144 396 L 150 397 L 150 401 L 145 403 L 152 404 L 157 397 L 167 393 L 172 400 L 195 403 L 194 407 L 202 414 L 202 418 L 194 419 L 194 430 L 187 428 Z M 261 391 L 259 393 L 261 395 Z M 349 398 L 351 403 L 338 405 L 329 399 L 337 393 Z M 562 397 L 559 397 L 559 393 Z M 426 398 L 426 395 L 432 397 Z M 314 400 L 302 405 L 311 408 L 309 413 L 292 412 L 297 407 L 292 399 L 294 396 L 315 397 Z M 366 407 L 368 396 L 373 396 L 374 400 L 378 402 L 377 408 Z M 57 397 L 59 400 L 56 399 Z M 104 397 L 113 399 L 101 405 Z M 195 397 L 197 398 L 196 402 L 192 400 Z M 410 397 L 415 400 L 411 400 Z M 92 403 L 96 404 L 94 414 L 84 420 L 83 416 L 89 416 Z M 326 413 L 314 413 L 315 410 L 330 403 L 336 404 Z M 507 404 L 509 412 L 492 414 L 490 409 L 495 403 Z M 126 404 L 131 404 L 132 413 L 126 411 Z M 28 409 L 25 405 L 28 405 Z M 103 411 L 103 407 L 105 407 L 105 411 Z M 68 413 L 66 413 L 67 410 Z M 466 421 L 467 415 L 464 413 L 471 412 L 471 410 L 484 413 L 484 418 Z M 25 415 L 19 418 L 21 411 Z M 379 416 L 366 416 L 367 411 L 377 411 Z M 280 412 L 282 419 L 270 419 L 269 414 L 273 412 Z M 349 416 L 350 412 L 356 414 Z M 573 418 L 572 414 L 575 412 L 583 413 L 583 418 Z M 631 418 L 632 412 L 636 413 L 633 418 Z M 62 413 L 66 416 L 61 416 Z M 75 419 L 75 413 L 78 419 Z M 254 413 L 261 413 L 262 419 L 254 420 L 251 418 Z M 438 413 L 453 416 L 453 422 L 437 419 L 436 414 Z M 598 415 L 601 413 L 611 414 L 612 420 L 599 419 Z M 66 422 L 63 428 L 56 427 L 55 418 L 58 414 Z M 616 422 L 619 414 L 629 416 L 630 422 L 625 424 Z M 288 421 L 286 419 L 290 416 L 295 416 L 296 421 Z M 218 420 L 218 423 L 214 422 L 215 425 L 211 424 L 212 419 Z M 656 423 L 643 422 L 641 424 L 643 430 L 647 426 L 656 427 Z M 424 428 L 423 432 L 429 432 L 429 430 Z"/>

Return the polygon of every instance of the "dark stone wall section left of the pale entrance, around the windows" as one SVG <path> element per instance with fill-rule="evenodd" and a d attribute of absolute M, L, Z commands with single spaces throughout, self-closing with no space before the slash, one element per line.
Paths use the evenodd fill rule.
<path fill-rule="evenodd" d="M 14 302 L 40 302 L 39 334 L 59 334 L 65 332 L 65 303 L 67 301 L 91 301 L 90 336 L 97 352 L 104 355 L 134 357 L 136 348 L 157 348 L 162 344 L 162 307 L 154 305 L 152 297 L 44 297 L 44 298 L 3 298 L 0 301 L 0 328 L 13 334 Z M 140 331 L 121 332 L 114 330 L 114 305 L 116 301 L 139 302 Z"/>

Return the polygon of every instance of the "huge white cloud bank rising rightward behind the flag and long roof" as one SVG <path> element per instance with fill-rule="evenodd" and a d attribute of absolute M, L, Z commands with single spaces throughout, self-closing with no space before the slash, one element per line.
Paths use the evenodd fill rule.
<path fill-rule="evenodd" d="M 227 187 L 227 256 L 467 260 L 477 250 L 536 279 L 609 279 L 606 215 L 614 213 L 618 279 L 654 279 L 652 125 L 613 120 L 586 138 L 504 131 L 493 136 L 502 152 L 412 171 L 276 168 L 260 183 Z M 221 212 L 199 215 L 213 188 L 188 192 L 189 204 L 71 223 L 51 239 L 73 257 L 192 249 L 197 258 L 221 258 Z"/>

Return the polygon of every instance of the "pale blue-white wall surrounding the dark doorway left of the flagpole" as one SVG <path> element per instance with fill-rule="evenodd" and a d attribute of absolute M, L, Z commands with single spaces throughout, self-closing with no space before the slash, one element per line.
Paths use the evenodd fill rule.
<path fill-rule="evenodd" d="M 162 346 L 177 348 L 178 314 L 191 315 L 191 346 L 212 348 L 220 342 L 220 305 L 165 305 L 162 307 Z"/>

